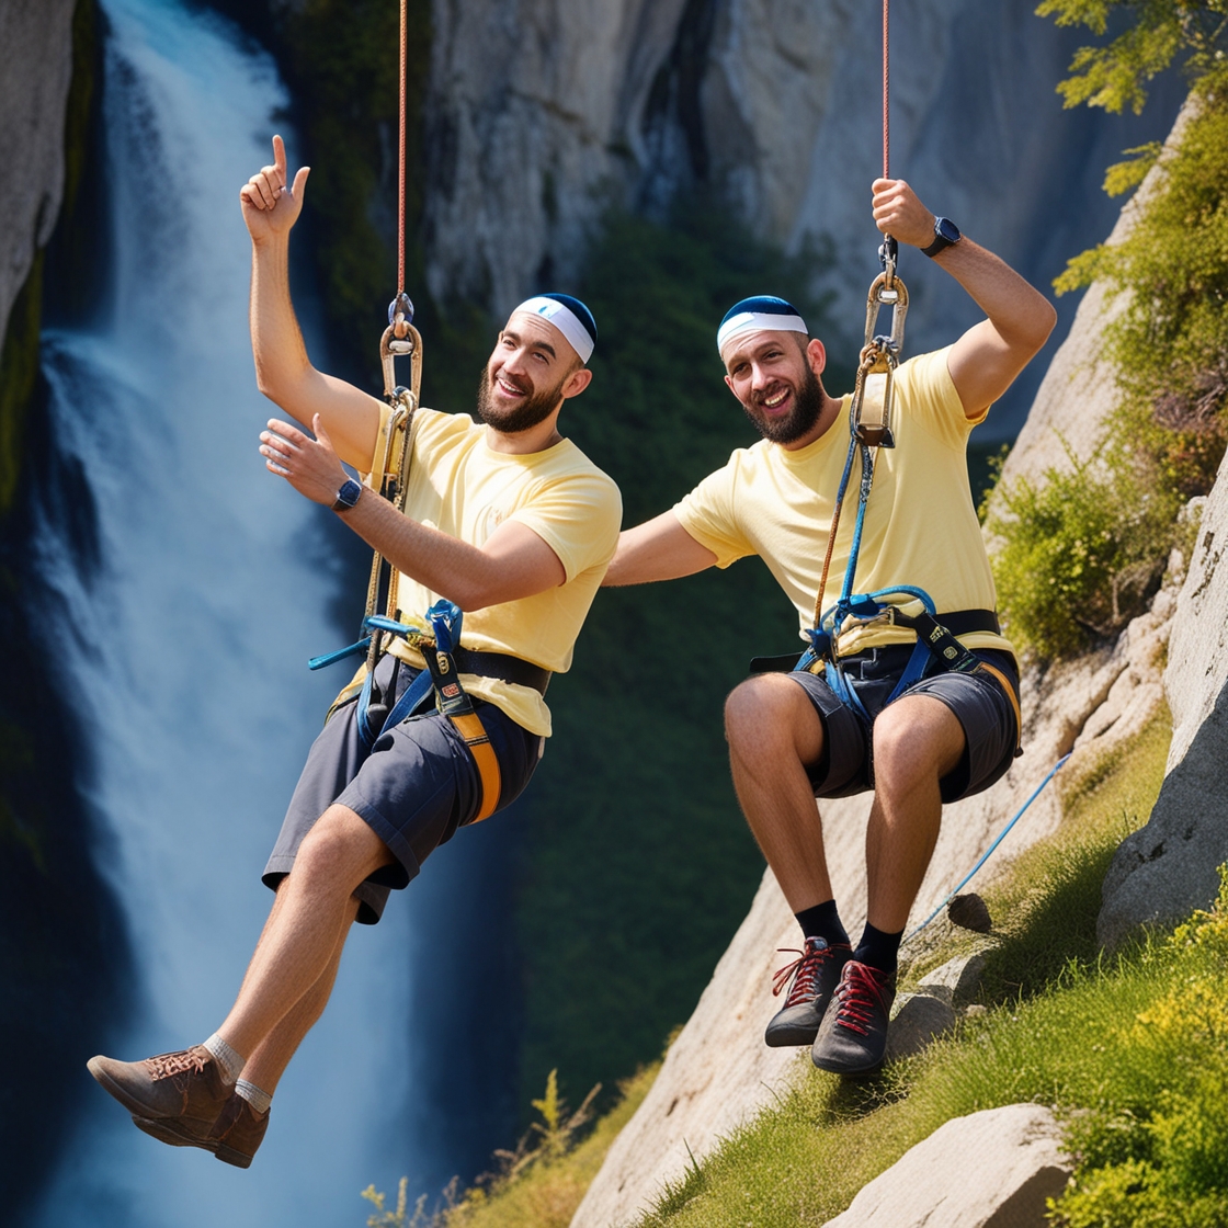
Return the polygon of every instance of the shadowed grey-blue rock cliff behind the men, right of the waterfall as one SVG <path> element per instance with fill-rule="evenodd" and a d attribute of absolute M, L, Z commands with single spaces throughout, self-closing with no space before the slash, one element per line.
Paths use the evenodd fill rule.
<path fill-rule="evenodd" d="M 1062 112 L 1054 86 L 1077 36 L 1033 9 L 895 7 L 892 172 L 1045 285 L 1113 225 L 1104 166 L 1162 136 L 1180 97 L 1162 84 L 1142 120 Z M 662 209 L 699 187 L 790 248 L 830 237 L 831 289 L 860 328 L 877 273 L 877 5 L 437 0 L 433 17 L 425 247 L 437 297 L 506 311 L 576 274 L 609 205 Z M 901 271 L 914 352 L 973 322 L 927 262 L 909 253 Z"/>

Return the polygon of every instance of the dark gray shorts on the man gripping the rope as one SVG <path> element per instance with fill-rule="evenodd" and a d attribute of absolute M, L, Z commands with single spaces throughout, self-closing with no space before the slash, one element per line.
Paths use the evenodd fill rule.
<path fill-rule="evenodd" d="M 907 645 L 871 648 L 842 658 L 845 677 L 871 718 L 887 706 L 907 664 Z M 980 661 L 1000 669 L 1019 694 L 1019 672 L 1008 652 L 974 651 Z M 873 745 L 860 713 L 840 701 L 822 674 L 791 673 L 806 689 L 823 721 L 823 755 L 808 764 L 815 797 L 849 797 L 874 787 Z M 939 672 L 914 683 L 904 695 L 932 695 L 955 713 L 964 728 L 964 754 L 958 766 L 939 781 L 943 802 L 980 793 L 1006 775 L 1019 740 L 1016 709 L 992 677 Z M 904 696 L 899 696 L 903 699 Z"/>

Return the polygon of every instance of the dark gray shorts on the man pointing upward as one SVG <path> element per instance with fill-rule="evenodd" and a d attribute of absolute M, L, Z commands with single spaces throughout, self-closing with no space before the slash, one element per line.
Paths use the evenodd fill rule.
<path fill-rule="evenodd" d="M 387 686 L 393 674 L 399 696 L 418 670 L 398 667 L 394 657 L 386 656 L 376 666 L 376 682 Z M 368 753 L 359 737 L 357 707 L 354 699 L 338 709 L 312 743 L 263 879 L 276 889 L 316 820 L 339 802 L 365 819 L 397 858 L 354 893 L 359 921 L 375 925 L 388 893 L 406 887 L 430 853 L 476 817 L 481 780 L 464 738 L 433 709 L 377 738 Z M 474 707 L 499 758 L 502 787 L 496 809 L 501 810 L 528 783 L 545 739 L 492 704 L 474 700 Z"/>

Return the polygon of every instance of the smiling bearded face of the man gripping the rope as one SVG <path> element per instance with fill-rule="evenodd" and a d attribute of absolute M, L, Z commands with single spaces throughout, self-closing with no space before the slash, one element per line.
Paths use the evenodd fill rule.
<path fill-rule="evenodd" d="M 732 340 L 722 357 L 725 382 L 765 440 L 787 446 L 814 431 L 825 402 L 820 341 L 760 329 Z"/>

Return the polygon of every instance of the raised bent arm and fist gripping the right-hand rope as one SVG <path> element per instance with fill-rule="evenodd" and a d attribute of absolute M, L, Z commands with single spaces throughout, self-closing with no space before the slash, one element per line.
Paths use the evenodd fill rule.
<path fill-rule="evenodd" d="M 903 179 L 876 179 L 874 222 L 912 247 L 933 242 L 935 215 Z M 1052 303 L 1006 262 L 962 238 L 933 258 L 989 317 L 974 324 L 947 357 L 968 418 L 977 418 L 1011 387 L 1057 322 Z"/>

